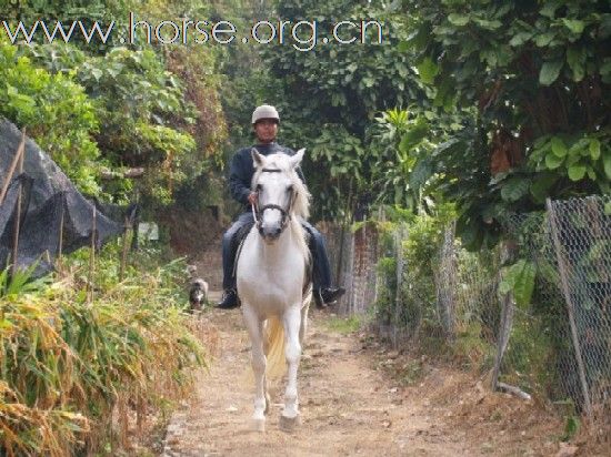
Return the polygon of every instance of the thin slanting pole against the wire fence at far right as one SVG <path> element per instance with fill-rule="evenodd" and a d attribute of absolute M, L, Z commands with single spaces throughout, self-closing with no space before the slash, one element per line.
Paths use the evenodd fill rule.
<path fill-rule="evenodd" d="M 585 403 L 585 413 L 589 417 L 592 416 L 592 403 L 590 402 L 590 389 L 588 388 L 588 379 L 585 377 L 585 365 L 581 356 L 581 344 L 579 343 L 579 336 L 577 333 L 577 324 L 574 317 L 574 305 L 571 298 L 571 291 L 569 288 L 569 278 L 567 273 L 567 265 L 564 263 L 564 256 L 562 255 L 562 245 L 560 244 L 560 237 L 558 236 L 558 226 L 555 221 L 555 213 L 552 207 L 550 199 L 547 199 L 545 206 L 548 214 L 550 215 L 550 226 L 552 232 L 553 244 L 555 247 L 555 256 L 558 258 L 558 270 L 560 271 L 560 283 L 562 285 L 562 292 L 564 293 L 564 299 L 567 301 L 567 309 L 569 312 L 569 324 L 571 326 L 571 336 L 573 339 L 573 346 L 575 348 L 577 366 L 579 370 L 579 380 L 581 384 L 581 392 L 583 394 L 583 402 Z"/>

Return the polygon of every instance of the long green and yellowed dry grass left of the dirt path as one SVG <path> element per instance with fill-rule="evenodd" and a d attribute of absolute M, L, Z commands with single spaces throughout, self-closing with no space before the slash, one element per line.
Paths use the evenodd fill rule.
<path fill-rule="evenodd" d="M 79 267 L 51 285 L 0 288 L 0 454 L 129 448 L 130 417 L 184 398 L 206 365 L 168 271 L 107 281 L 86 301 Z M 170 278 L 171 280 L 171 278 Z M 101 283 L 101 282 L 100 282 Z"/>

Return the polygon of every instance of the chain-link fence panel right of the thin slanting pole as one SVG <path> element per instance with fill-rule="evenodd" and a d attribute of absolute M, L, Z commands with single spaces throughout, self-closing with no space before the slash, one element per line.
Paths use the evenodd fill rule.
<path fill-rule="evenodd" d="M 608 424 L 611 424 L 610 210 L 611 195 L 548 202 L 581 394 L 575 397 L 591 417 L 605 419 Z"/>

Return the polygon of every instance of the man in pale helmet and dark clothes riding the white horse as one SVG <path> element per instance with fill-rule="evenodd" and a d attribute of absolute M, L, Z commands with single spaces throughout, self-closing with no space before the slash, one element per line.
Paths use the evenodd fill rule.
<path fill-rule="evenodd" d="M 251 191 L 250 185 L 254 166 L 251 150 L 256 148 L 262 155 L 283 153 L 293 155 L 294 151 L 281 146 L 276 142 L 280 116 L 276 108 L 269 104 L 257 106 L 252 113 L 252 126 L 257 135 L 258 144 L 239 150 L 231 160 L 229 190 L 231 196 L 244 205 L 244 211 L 238 216 L 231 227 L 224 233 L 222 242 L 223 260 L 223 298 L 217 304 L 218 308 L 230 309 L 240 305 L 236 290 L 233 266 L 236 253 L 241 238 L 248 233 L 254 223 L 251 205 L 257 202 L 257 192 Z M 303 181 L 301 170 L 299 177 Z M 331 267 L 327 255 L 327 246 L 322 234 L 307 221 L 301 221 L 303 228 L 309 234 L 309 247 L 313 262 L 314 299 L 319 307 L 334 303 L 344 292 L 343 287 L 331 286 Z"/>

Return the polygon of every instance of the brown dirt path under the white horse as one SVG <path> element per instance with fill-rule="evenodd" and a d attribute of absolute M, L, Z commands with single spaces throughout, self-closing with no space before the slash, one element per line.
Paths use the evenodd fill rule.
<path fill-rule="evenodd" d="M 553 456 L 561 424 L 532 404 L 492 394 L 473 376 L 388 353 L 364 334 L 328 328 L 314 312 L 299 384 L 302 425 L 279 430 L 282 388 L 264 434 L 250 430 L 249 341 L 240 311 L 210 311 L 214 346 L 192 404 L 174 414 L 164 456 Z M 401 386 L 389 372 L 419 367 Z M 282 385 L 283 387 L 283 385 Z"/>

